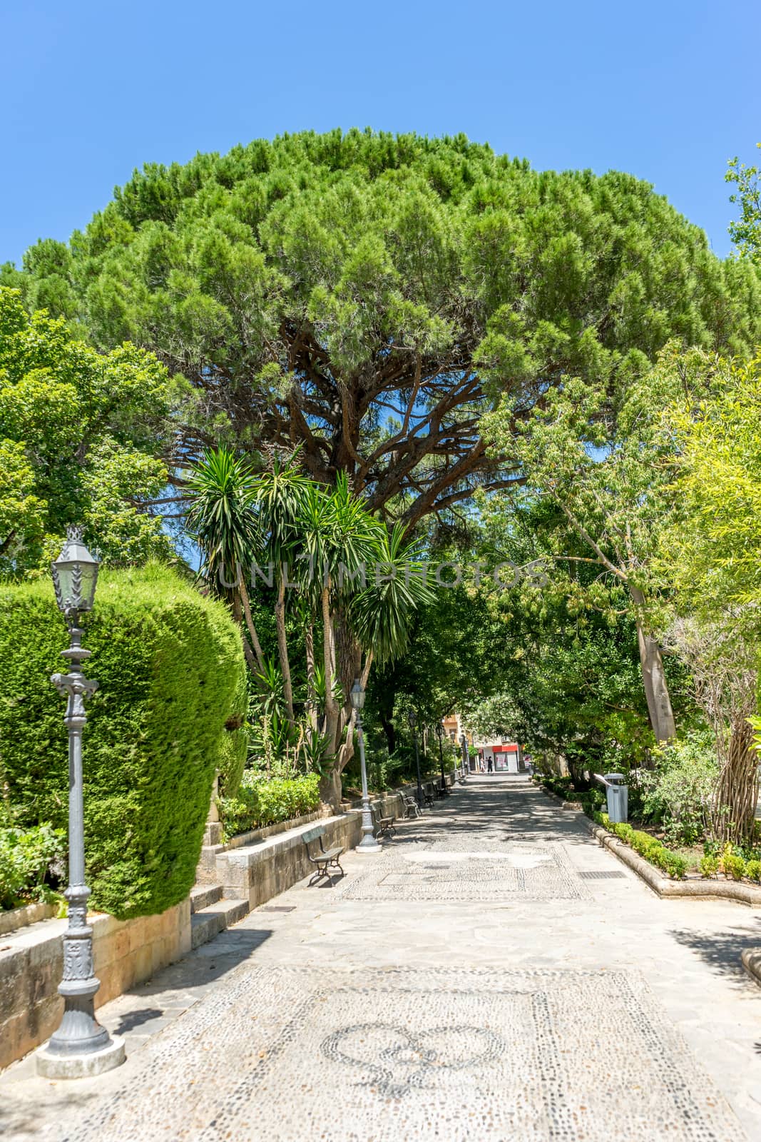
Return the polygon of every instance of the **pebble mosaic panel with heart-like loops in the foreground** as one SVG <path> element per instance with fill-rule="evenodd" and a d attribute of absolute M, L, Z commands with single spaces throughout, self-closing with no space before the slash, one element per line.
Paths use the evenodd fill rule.
<path fill-rule="evenodd" d="M 743 1139 L 622 972 L 242 966 L 140 1056 L 62 1142 Z"/>

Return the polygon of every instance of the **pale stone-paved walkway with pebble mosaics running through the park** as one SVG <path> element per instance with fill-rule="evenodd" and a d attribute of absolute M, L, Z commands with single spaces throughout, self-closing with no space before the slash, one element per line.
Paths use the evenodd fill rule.
<path fill-rule="evenodd" d="M 471 777 L 100 1008 L 128 1062 L 0 1078 L 14 1142 L 754 1142 L 759 914 L 658 900 L 523 778 Z"/>

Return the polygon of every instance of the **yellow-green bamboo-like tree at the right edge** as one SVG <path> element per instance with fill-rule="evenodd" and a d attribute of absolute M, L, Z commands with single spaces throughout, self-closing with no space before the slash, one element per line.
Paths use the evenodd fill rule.
<path fill-rule="evenodd" d="M 673 411 L 679 513 L 662 537 L 662 565 L 680 620 L 672 638 L 694 676 L 713 730 L 719 775 L 712 830 L 753 836 L 759 791 L 752 718 L 761 642 L 761 357 L 690 355 L 705 378 Z"/>

